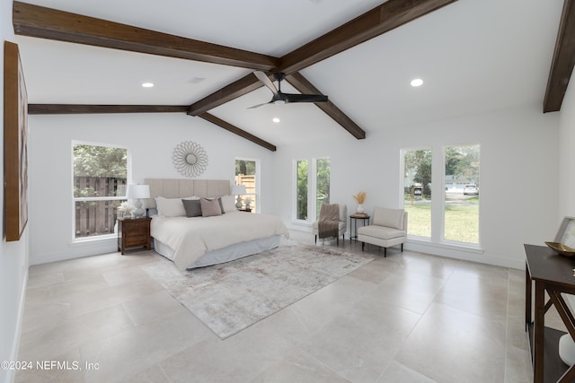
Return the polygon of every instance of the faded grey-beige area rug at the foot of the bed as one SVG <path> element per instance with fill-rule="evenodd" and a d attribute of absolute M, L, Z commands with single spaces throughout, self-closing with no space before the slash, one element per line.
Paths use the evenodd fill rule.
<path fill-rule="evenodd" d="M 225 339 L 372 259 L 338 248 L 291 245 L 185 272 L 166 261 L 143 268 Z"/>

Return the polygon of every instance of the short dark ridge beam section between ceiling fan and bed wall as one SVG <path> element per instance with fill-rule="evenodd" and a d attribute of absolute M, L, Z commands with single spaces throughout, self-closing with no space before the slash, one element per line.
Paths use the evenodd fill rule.
<path fill-rule="evenodd" d="M 261 86 L 260 80 L 258 80 L 255 75 L 247 74 L 241 79 L 234 81 L 234 83 L 230 83 L 224 88 L 213 92 L 208 97 L 204 97 L 191 104 L 188 114 L 190 116 L 199 116 L 210 109 L 224 105 L 228 101 L 235 100 L 250 91 L 255 91 L 261 88 Z"/>

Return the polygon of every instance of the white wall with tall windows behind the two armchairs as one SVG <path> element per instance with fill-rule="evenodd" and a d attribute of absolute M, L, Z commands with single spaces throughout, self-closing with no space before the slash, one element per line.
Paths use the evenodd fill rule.
<path fill-rule="evenodd" d="M 325 143 L 279 147 L 276 211 L 292 220 L 293 160 L 332 159 L 332 202 L 355 211 L 352 195 L 367 191 L 366 210 L 375 205 L 400 206 L 400 150 L 481 144 L 481 247 L 464 251 L 414 243 L 406 248 L 471 259 L 494 265 L 525 266 L 524 243 L 543 244 L 557 230 L 559 118 L 540 106 L 496 111 L 417 126 L 390 126 L 367 132 L 366 140 L 349 138 Z M 385 124 L 385 121 L 382 121 Z M 290 204 L 284 202 L 289 201 Z"/>

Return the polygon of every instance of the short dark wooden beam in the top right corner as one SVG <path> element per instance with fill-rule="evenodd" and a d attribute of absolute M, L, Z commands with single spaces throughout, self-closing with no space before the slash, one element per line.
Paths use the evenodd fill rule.
<path fill-rule="evenodd" d="M 573 52 L 575 52 L 575 0 L 565 0 L 545 90 L 544 113 L 561 110 L 575 65 Z"/>

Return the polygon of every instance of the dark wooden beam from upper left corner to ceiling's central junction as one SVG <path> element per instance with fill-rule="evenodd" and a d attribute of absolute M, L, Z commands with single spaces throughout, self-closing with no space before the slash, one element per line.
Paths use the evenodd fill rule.
<path fill-rule="evenodd" d="M 13 2 L 13 28 L 22 36 L 262 71 L 270 71 L 279 64 L 277 57 L 17 1 Z"/>

